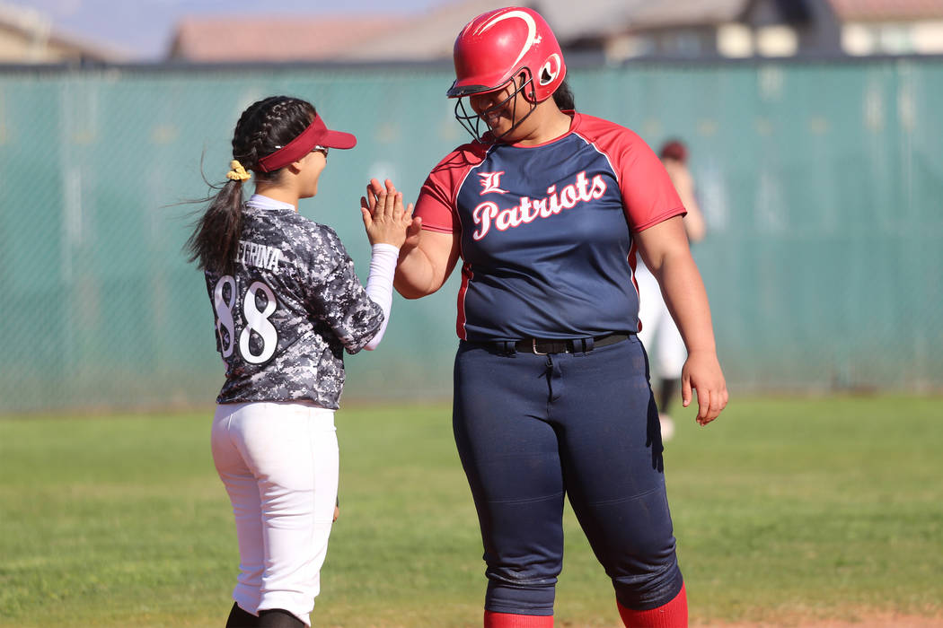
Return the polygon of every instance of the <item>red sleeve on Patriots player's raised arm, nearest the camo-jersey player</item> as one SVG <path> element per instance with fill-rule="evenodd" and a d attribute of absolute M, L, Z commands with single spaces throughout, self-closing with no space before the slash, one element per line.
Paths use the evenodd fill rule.
<path fill-rule="evenodd" d="M 413 216 L 422 217 L 422 229 L 438 233 L 455 233 L 462 229 L 456 214 L 458 189 L 473 166 L 480 164 L 487 147 L 475 143 L 461 146 L 432 169 L 416 201 Z"/>

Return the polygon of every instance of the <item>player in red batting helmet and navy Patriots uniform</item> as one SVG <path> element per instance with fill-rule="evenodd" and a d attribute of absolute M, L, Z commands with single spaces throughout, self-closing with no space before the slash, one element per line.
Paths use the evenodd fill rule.
<path fill-rule="evenodd" d="M 448 95 L 474 139 L 422 185 L 394 285 L 424 297 L 462 260 L 454 430 L 485 547 L 485 626 L 553 625 L 565 495 L 625 625 L 686 626 L 638 254 L 684 336 L 684 404 L 696 390 L 702 425 L 726 385 L 668 174 L 632 131 L 574 111 L 566 73 L 529 8 L 462 29 Z"/>

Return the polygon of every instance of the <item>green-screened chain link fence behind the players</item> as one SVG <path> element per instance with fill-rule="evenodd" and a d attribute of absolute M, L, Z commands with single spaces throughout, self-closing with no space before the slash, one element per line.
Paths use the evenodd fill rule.
<path fill-rule="evenodd" d="M 410 199 L 465 141 L 445 66 L 0 72 L 0 412 L 211 403 L 223 379 L 182 246 L 240 111 L 288 93 L 332 128 L 306 217 L 363 279 L 370 177 Z M 943 387 L 943 59 L 571 68 L 577 107 L 653 147 L 682 137 L 709 229 L 695 249 L 730 387 Z M 396 297 L 345 401 L 446 398 L 453 278 Z"/>

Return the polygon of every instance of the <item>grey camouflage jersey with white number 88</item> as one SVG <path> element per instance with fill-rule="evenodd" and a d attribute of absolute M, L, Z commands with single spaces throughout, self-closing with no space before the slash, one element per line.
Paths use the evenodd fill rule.
<path fill-rule="evenodd" d="M 329 227 L 293 208 L 245 205 L 234 273 L 206 273 L 226 364 L 217 403 L 310 400 L 337 410 L 343 349 L 356 353 L 383 312 Z"/>

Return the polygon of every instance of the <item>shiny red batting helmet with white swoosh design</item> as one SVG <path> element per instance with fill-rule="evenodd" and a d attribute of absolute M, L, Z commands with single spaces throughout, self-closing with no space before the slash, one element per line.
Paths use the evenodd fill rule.
<path fill-rule="evenodd" d="M 449 98 L 501 89 L 521 72 L 531 81 L 528 100 L 550 98 L 567 66 L 550 25 L 531 8 L 488 11 L 465 25 L 455 40 L 455 83 Z"/>

